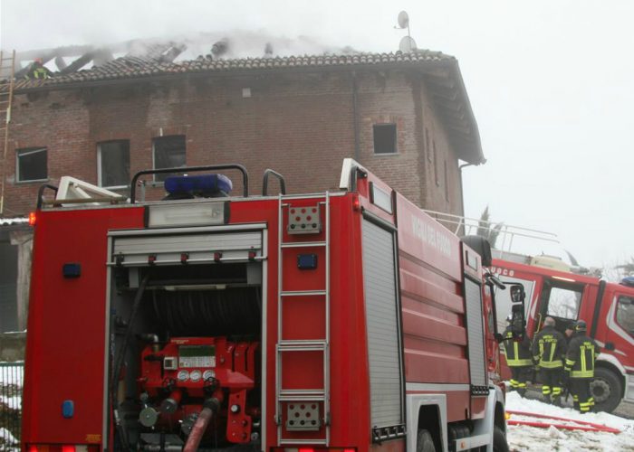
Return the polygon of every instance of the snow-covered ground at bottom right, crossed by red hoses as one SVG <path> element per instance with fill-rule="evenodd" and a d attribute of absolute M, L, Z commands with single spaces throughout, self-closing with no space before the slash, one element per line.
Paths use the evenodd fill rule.
<path fill-rule="evenodd" d="M 543 452 L 578 452 L 581 450 L 604 452 L 634 452 L 634 420 L 623 419 L 608 413 L 581 414 L 572 408 L 560 408 L 539 400 L 528 400 L 517 392 L 506 394 L 506 410 L 526 411 L 559 418 L 579 419 L 586 422 L 605 425 L 621 430 L 620 434 L 567 430 L 551 428 L 535 428 L 528 426 L 508 426 L 506 438 L 512 451 Z M 525 419 L 511 415 L 509 420 Z M 532 419 L 549 422 L 549 419 Z M 562 423 L 561 421 L 552 421 Z"/>

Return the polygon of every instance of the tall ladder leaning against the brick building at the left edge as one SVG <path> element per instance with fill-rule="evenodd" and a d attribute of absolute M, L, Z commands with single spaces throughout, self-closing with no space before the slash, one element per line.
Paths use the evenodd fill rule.
<path fill-rule="evenodd" d="M 6 155 L 9 148 L 11 105 L 14 100 L 15 51 L 0 50 L 0 146 L 2 146 L 2 184 L 0 186 L 0 215 L 5 213 Z"/>

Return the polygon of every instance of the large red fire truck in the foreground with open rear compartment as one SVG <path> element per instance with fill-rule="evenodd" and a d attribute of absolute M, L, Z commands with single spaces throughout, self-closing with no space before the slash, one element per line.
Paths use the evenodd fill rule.
<path fill-rule="evenodd" d="M 32 218 L 23 450 L 507 450 L 487 243 L 354 161 L 337 193 L 62 179 Z"/>

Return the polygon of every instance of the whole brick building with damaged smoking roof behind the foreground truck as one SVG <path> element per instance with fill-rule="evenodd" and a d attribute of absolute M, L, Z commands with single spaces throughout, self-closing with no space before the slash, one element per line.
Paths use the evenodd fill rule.
<path fill-rule="evenodd" d="M 38 188 L 62 175 L 127 193 L 152 167 L 240 163 L 251 193 L 265 168 L 289 193 L 336 190 L 344 157 L 421 207 L 463 213 L 460 161 L 485 158 L 454 57 L 164 55 L 18 81 L 2 215 L 33 210 Z"/>

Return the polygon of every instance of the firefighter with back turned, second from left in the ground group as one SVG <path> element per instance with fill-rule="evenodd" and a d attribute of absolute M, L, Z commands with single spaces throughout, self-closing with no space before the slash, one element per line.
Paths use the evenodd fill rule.
<path fill-rule="evenodd" d="M 546 317 L 543 328 L 533 340 L 533 360 L 540 370 L 542 400 L 561 404 L 563 360 L 566 356 L 566 339 L 555 330 L 555 320 Z"/>

